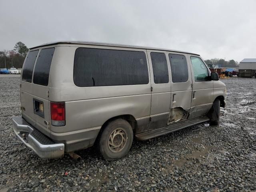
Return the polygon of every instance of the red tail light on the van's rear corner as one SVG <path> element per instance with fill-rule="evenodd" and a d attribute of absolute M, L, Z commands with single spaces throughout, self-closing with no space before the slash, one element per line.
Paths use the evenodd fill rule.
<path fill-rule="evenodd" d="M 65 103 L 51 102 L 51 121 L 54 126 L 64 126 L 66 121 Z"/>

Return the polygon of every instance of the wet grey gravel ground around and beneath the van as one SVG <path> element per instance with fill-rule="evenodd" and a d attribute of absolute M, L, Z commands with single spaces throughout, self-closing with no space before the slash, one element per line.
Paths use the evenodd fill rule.
<path fill-rule="evenodd" d="M 103 160 L 95 148 L 82 161 L 43 161 L 12 131 L 20 115 L 20 75 L 0 75 L 0 192 L 4 191 L 256 191 L 256 79 L 222 80 L 228 89 L 220 126 L 199 124 Z M 66 173 L 66 174 L 65 174 Z"/>

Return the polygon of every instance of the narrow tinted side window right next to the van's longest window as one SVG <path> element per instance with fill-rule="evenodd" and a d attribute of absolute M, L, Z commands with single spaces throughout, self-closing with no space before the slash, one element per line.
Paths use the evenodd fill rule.
<path fill-rule="evenodd" d="M 154 82 L 168 83 L 169 75 L 168 75 L 168 66 L 167 66 L 165 54 L 151 52 L 150 56 L 151 56 L 152 66 L 153 66 Z"/>

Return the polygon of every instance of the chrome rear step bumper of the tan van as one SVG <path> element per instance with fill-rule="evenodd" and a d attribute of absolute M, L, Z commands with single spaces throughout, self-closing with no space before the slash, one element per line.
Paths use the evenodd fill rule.
<path fill-rule="evenodd" d="M 16 136 L 42 159 L 53 159 L 64 156 L 64 144 L 55 143 L 36 130 L 22 116 L 12 118 Z"/>

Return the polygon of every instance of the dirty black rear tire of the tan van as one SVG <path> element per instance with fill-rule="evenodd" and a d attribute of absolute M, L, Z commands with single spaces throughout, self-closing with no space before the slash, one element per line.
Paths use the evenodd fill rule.
<path fill-rule="evenodd" d="M 111 138 L 113 137 L 111 136 L 113 136 L 115 131 L 116 132 L 121 131 L 123 134 L 126 135 L 126 137 L 125 136 L 123 137 L 123 138 L 126 138 L 126 142 L 123 147 L 121 145 L 120 151 L 118 151 L 118 148 L 110 149 L 113 146 L 110 145 L 109 143 L 112 143 Z M 114 139 L 115 138 L 118 138 L 118 139 L 121 138 L 122 140 L 122 137 L 120 136 L 120 134 L 116 135 Z M 104 128 L 100 136 L 100 143 L 99 143 L 100 153 L 102 154 L 103 158 L 106 160 L 118 160 L 124 157 L 128 153 L 128 151 L 132 146 L 132 141 L 133 141 L 132 126 L 126 120 L 123 120 L 123 119 L 113 120 L 106 125 L 106 127 Z M 118 144 L 120 144 L 120 142 Z M 113 150 L 117 150 L 117 151 L 113 152 Z"/>

